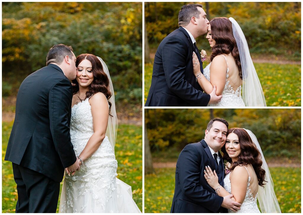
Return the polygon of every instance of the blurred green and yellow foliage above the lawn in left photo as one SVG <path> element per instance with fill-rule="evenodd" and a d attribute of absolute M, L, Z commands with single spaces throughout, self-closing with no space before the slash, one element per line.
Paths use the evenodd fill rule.
<path fill-rule="evenodd" d="M 71 45 L 107 64 L 116 100 L 142 100 L 142 2 L 3 2 L 2 90 L 15 95 L 23 79 L 45 66 L 48 50 Z"/>

